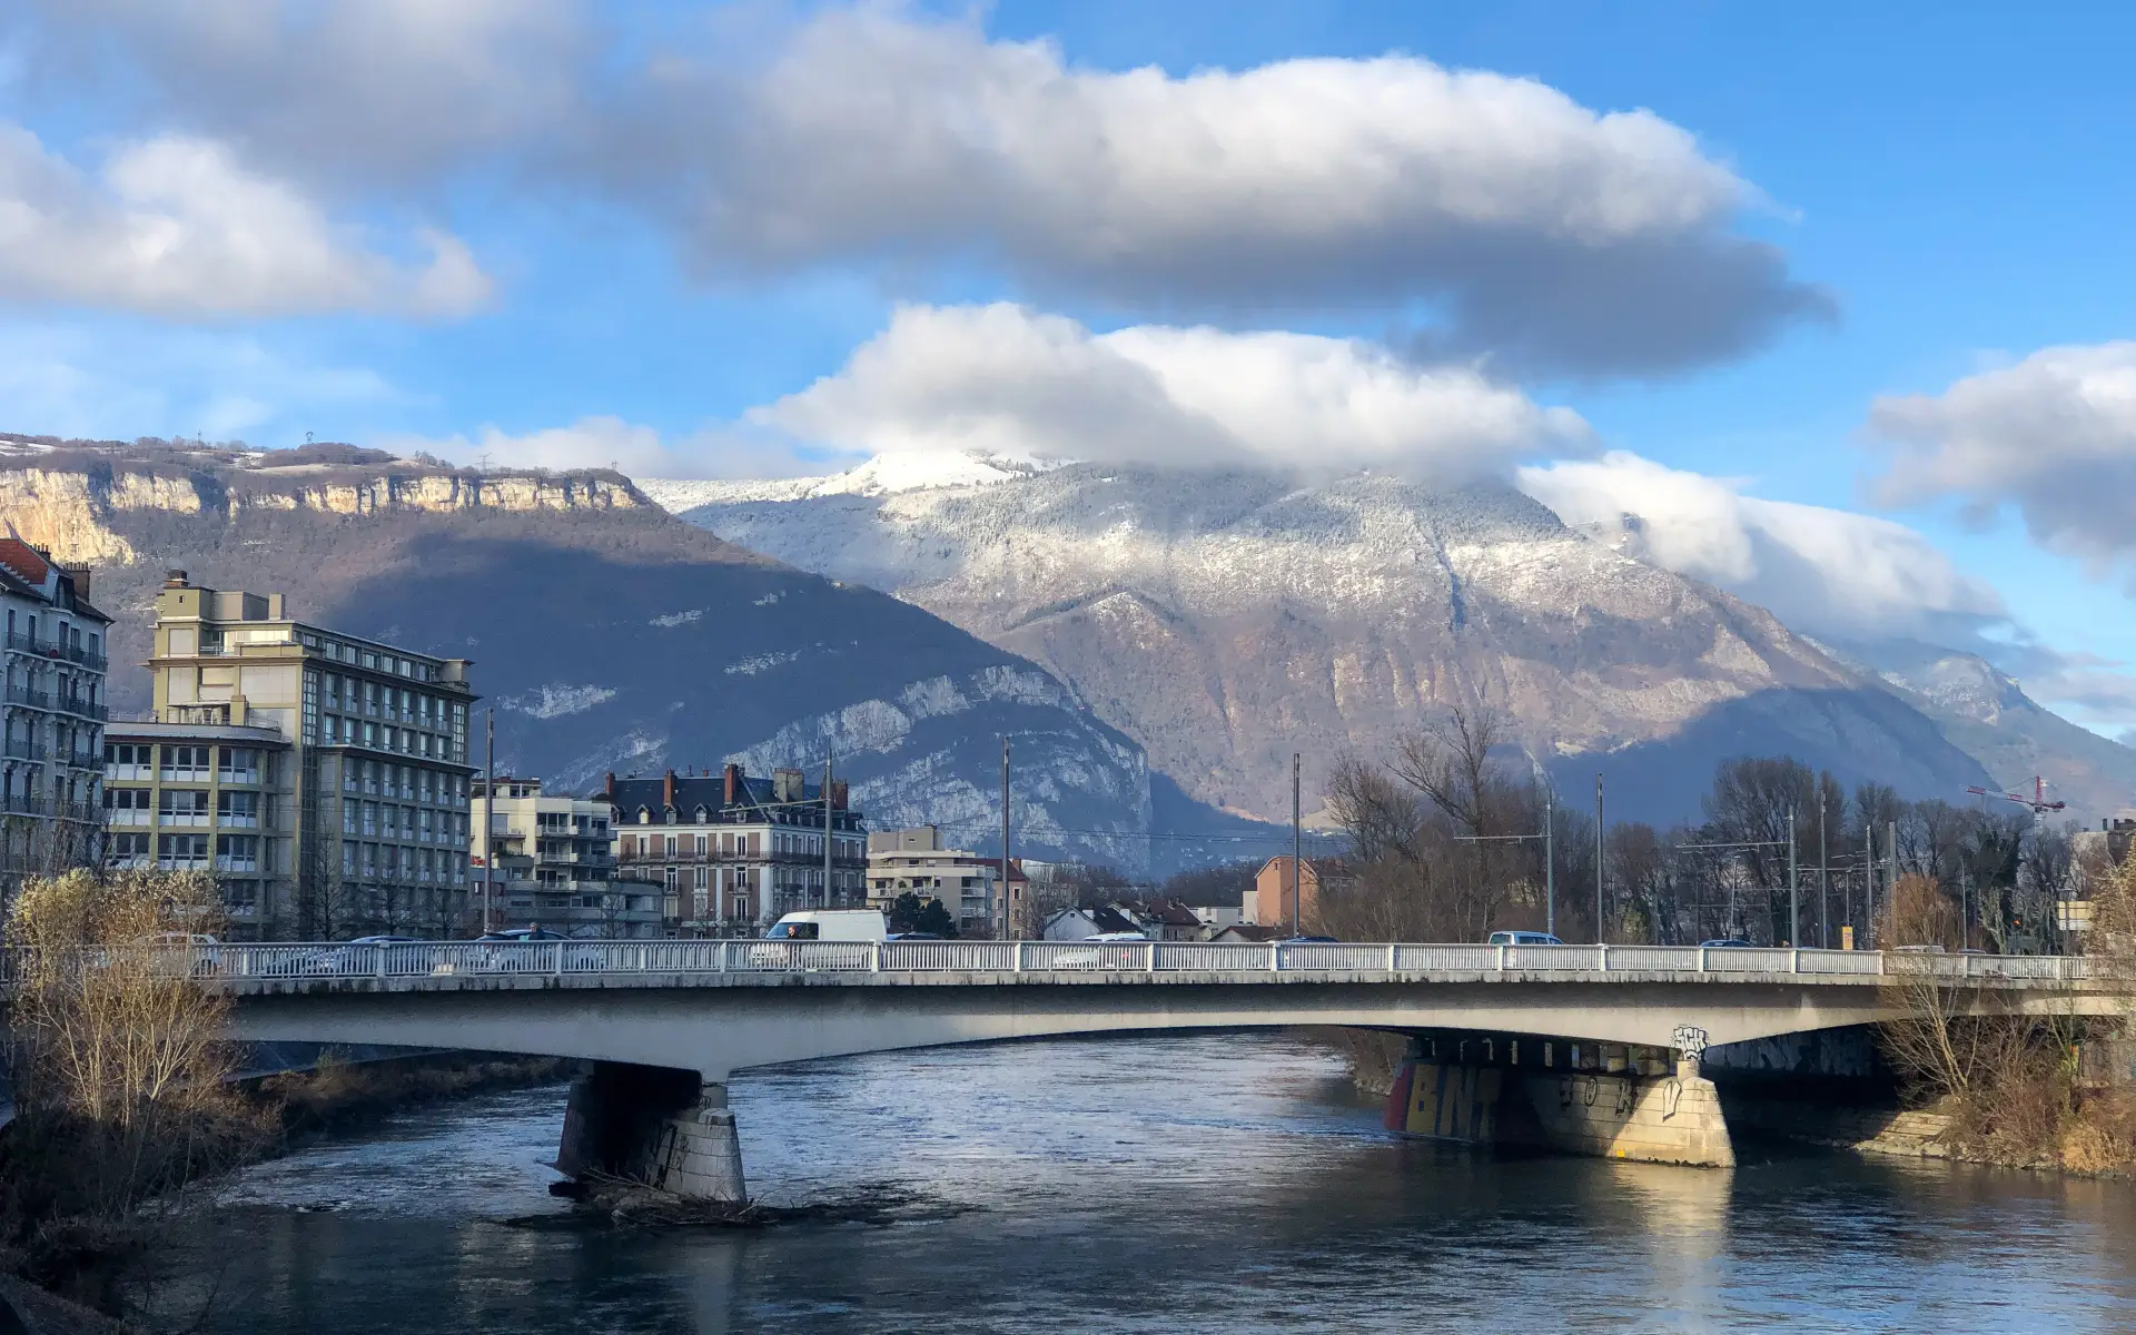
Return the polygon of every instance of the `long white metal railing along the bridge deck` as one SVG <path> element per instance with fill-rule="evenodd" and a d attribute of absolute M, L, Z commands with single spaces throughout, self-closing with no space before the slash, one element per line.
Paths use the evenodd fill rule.
<path fill-rule="evenodd" d="M 393 944 L 216 944 L 152 948 L 173 970 L 220 978 L 423 978 L 483 974 L 1203 974 L 1211 983 L 1282 974 L 1581 974 L 1685 980 L 1803 974 L 2078 980 L 2076 955 L 1935 955 L 1728 946 L 1470 946 L 1329 942 L 784 942 L 560 940 Z"/>

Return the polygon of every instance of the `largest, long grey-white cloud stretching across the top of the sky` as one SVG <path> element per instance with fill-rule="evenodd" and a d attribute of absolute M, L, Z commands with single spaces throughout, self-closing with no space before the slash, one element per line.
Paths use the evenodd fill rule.
<path fill-rule="evenodd" d="M 30 0 L 17 26 L 53 94 L 100 85 L 325 197 L 604 199 L 720 280 L 863 267 L 925 293 L 976 263 L 1166 323 L 1429 312 L 1395 337 L 1418 361 L 1581 376 L 1835 312 L 1739 231 L 1771 209 L 1692 132 L 1536 79 L 1401 53 L 1087 68 L 899 4 L 587 9 Z"/>

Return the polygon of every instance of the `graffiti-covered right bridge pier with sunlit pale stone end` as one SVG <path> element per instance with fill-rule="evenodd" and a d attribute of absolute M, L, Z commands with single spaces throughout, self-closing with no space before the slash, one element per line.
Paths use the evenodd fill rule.
<path fill-rule="evenodd" d="M 1696 1051 L 1435 1032 L 1410 1040 L 1386 1126 L 1647 1164 L 1732 1168 L 1734 1145 Z"/>

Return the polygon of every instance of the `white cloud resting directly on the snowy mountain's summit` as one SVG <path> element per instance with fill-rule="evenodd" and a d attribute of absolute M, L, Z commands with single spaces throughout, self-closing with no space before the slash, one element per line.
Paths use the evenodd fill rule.
<path fill-rule="evenodd" d="M 1021 305 L 906 305 L 750 423 L 867 455 L 983 451 L 1177 466 L 1384 468 L 1457 481 L 1585 446 L 1587 425 L 1472 367 L 1303 333 L 1091 333 Z"/>

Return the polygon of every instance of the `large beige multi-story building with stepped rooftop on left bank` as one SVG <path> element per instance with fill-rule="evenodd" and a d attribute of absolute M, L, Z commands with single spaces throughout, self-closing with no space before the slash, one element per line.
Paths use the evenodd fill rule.
<path fill-rule="evenodd" d="M 466 658 L 310 626 L 280 594 L 184 570 L 156 594 L 154 634 L 154 716 L 105 748 L 128 861 L 216 867 L 235 936 L 474 925 Z"/>

